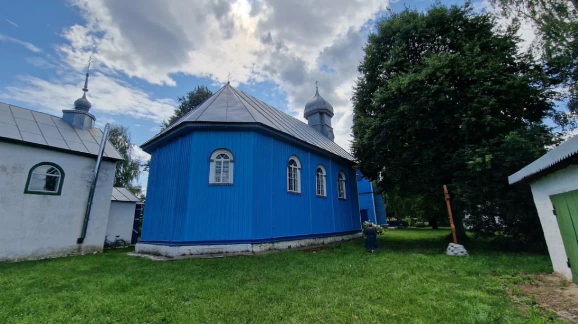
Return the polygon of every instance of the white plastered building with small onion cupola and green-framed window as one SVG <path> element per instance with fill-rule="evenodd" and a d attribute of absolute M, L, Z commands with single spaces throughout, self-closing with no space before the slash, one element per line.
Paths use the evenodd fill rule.
<path fill-rule="evenodd" d="M 87 74 L 88 78 L 88 74 Z M 0 103 L 0 261 L 102 251 L 117 161 L 84 95 L 62 117 Z"/>

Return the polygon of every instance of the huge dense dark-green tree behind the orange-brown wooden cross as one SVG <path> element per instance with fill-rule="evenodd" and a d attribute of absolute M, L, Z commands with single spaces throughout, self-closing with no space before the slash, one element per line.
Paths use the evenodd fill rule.
<path fill-rule="evenodd" d="M 406 9 L 379 22 L 359 66 L 352 149 L 361 171 L 401 198 L 437 192 L 443 201 L 447 184 L 462 238 L 467 217 L 476 231 L 543 239 L 528 186 L 507 176 L 553 143 L 543 119 L 554 93 L 518 41 L 469 3 Z"/>

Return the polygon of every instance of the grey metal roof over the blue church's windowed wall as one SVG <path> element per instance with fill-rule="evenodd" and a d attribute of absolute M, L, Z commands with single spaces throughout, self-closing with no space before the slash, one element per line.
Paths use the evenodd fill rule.
<path fill-rule="evenodd" d="M 142 147 L 145 148 L 184 123 L 203 122 L 262 124 L 344 159 L 355 161 L 355 158 L 341 146 L 318 133 L 306 123 L 231 85 L 223 86 L 209 99 L 146 141 Z"/>

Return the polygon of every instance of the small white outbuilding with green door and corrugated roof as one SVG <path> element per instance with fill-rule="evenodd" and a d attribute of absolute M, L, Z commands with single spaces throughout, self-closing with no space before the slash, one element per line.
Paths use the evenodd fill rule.
<path fill-rule="evenodd" d="M 530 184 L 554 271 L 578 283 L 578 135 L 508 180 Z"/>

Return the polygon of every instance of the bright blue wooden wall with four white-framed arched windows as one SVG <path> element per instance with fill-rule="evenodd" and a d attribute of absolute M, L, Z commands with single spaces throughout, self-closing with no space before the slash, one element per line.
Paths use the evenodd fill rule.
<path fill-rule="evenodd" d="M 234 155 L 234 183 L 209 185 L 209 158 Z M 287 161 L 301 160 L 301 194 L 287 193 Z M 316 197 L 317 165 L 327 170 L 327 198 Z M 338 199 L 337 176 L 347 176 Z M 346 162 L 255 131 L 195 130 L 151 154 L 140 242 L 220 244 L 330 236 L 361 229 L 355 172 Z"/>

